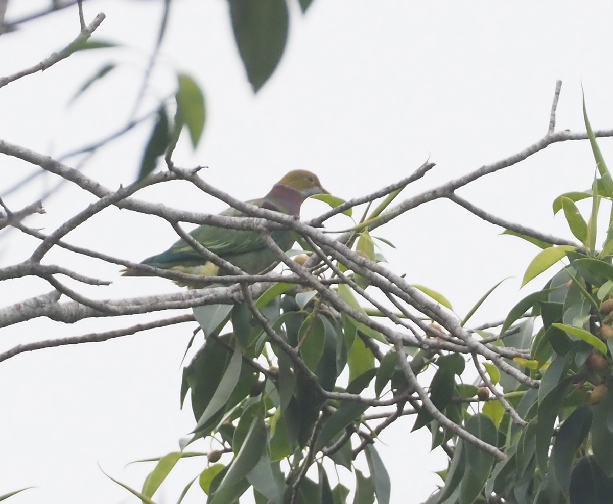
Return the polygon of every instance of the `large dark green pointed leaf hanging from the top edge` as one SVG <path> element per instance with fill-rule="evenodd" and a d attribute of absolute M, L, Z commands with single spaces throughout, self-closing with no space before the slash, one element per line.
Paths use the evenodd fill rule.
<path fill-rule="evenodd" d="M 286 0 L 230 1 L 230 19 L 238 53 L 254 92 L 275 71 L 289 28 Z"/>

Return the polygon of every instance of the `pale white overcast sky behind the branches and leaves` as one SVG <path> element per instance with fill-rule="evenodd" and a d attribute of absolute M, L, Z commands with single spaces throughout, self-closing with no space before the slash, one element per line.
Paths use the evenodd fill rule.
<path fill-rule="evenodd" d="M 314 0 L 305 17 L 297 2 L 290 3 L 289 42 L 280 67 L 253 96 L 227 3 L 175 0 L 162 57 L 140 110 L 150 110 L 172 92 L 175 70 L 191 73 L 205 90 L 208 119 L 198 151 L 192 153 L 183 141 L 175 163 L 208 165 L 202 172 L 207 182 L 237 198 L 265 194 L 294 168 L 316 172 L 335 195 L 357 197 L 403 178 L 430 156 L 437 167 L 406 190 L 406 195 L 416 194 L 539 140 L 547 130 L 558 78 L 563 80 L 558 129 L 584 129 L 581 83 L 592 126 L 613 127 L 611 2 Z M 7 20 L 46 4 L 11 0 Z M 0 138 L 58 157 L 123 126 L 161 8 L 160 1 L 86 2 L 87 22 L 98 12 L 107 15 L 95 36 L 124 43 L 129 50 L 77 54 L 0 89 Z M 2 35 L 0 75 L 35 64 L 77 32 L 74 7 Z M 120 69 L 68 107 L 83 81 L 109 61 L 121 62 Z M 107 146 L 89 162 L 87 175 L 110 188 L 131 182 L 149 132 L 147 124 Z M 613 163 L 611 141 L 600 145 Z M 74 165 L 77 159 L 68 162 Z M 8 157 L 1 163 L 0 195 L 10 208 L 31 203 L 56 183 L 54 176 L 40 177 L 5 197 L 7 187 L 36 168 Z M 551 202 L 563 192 L 587 189 L 592 176 L 588 143 L 566 142 L 459 194 L 498 216 L 569 236 L 563 217 L 552 216 Z M 180 182 L 138 197 L 192 211 L 216 213 L 224 207 Z M 91 195 L 66 185 L 44 201 L 47 214 L 32 216 L 26 224 L 51 232 L 91 201 Z M 309 201 L 303 217 L 324 210 Z M 500 231 L 438 201 L 376 234 L 398 247 L 383 250 L 390 268 L 441 291 L 460 315 L 493 284 L 514 277 L 478 312 L 476 325 L 504 318 L 517 299 L 546 280 L 544 275 L 519 290 L 519 279 L 538 250 L 499 236 Z M 165 222 L 116 209 L 105 210 L 66 238 L 130 260 L 160 252 L 175 239 Z M 0 234 L 0 266 L 24 260 L 35 245 L 17 231 Z M 96 298 L 178 289 L 164 279 L 120 278 L 113 265 L 61 252 L 48 254 L 47 260 L 113 280 L 110 287 L 78 287 Z M 0 306 L 50 290 L 39 279 L 5 281 Z M 69 326 L 40 318 L 2 329 L 0 350 L 137 320 L 144 319 L 89 319 Z M 174 451 L 178 439 L 192 429 L 191 410 L 181 411 L 178 401 L 180 361 L 191 331 L 192 325 L 183 325 L 103 344 L 40 350 L 0 363 L 0 495 L 33 485 L 38 488 L 10 502 L 136 502 L 97 464 L 140 487 L 153 465 L 125 464 Z M 394 503 L 425 500 L 440 481 L 433 472 L 446 467 L 441 451 L 428 451 L 427 431 L 409 434 L 411 425 L 411 419 L 397 421 L 377 444 L 392 479 Z M 183 484 L 204 462 L 180 465 L 183 469 L 171 475 L 156 502 L 176 502 Z M 345 478 L 346 484 L 351 481 Z M 184 502 L 202 498 L 193 489 Z"/>

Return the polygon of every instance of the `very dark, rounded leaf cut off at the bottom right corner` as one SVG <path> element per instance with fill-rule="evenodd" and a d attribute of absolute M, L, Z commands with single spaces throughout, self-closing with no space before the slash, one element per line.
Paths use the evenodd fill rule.
<path fill-rule="evenodd" d="M 570 504 L 611 504 L 613 484 L 596 462 L 595 457 L 583 457 L 573 469 Z"/>

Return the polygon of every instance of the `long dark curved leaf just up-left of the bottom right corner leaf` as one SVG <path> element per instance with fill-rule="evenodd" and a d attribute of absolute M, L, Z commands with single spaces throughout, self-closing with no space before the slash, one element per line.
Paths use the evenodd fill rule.
<path fill-rule="evenodd" d="M 553 454 L 555 478 L 565 495 L 568 495 L 571 484 L 571 472 L 577 448 L 587 436 L 591 425 L 592 410 L 588 406 L 580 406 L 566 418 L 555 435 Z"/>

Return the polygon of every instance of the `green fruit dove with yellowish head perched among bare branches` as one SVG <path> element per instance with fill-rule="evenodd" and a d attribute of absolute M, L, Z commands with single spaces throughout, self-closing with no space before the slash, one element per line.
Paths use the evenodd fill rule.
<path fill-rule="evenodd" d="M 307 170 L 293 170 L 278 181 L 264 198 L 249 200 L 245 203 L 273 210 L 286 215 L 300 216 L 300 206 L 303 201 L 314 194 L 330 194 L 321 186 L 314 173 Z M 245 213 L 235 208 L 227 208 L 219 215 L 243 217 Z M 257 274 L 276 262 L 272 250 L 262 241 L 257 231 L 237 230 L 204 224 L 189 233 L 196 241 L 208 250 L 225 259 L 247 274 Z M 284 252 L 291 249 L 294 236 L 290 230 L 273 230 L 272 239 Z M 219 268 L 208 261 L 183 239 L 158 255 L 152 255 L 141 261 L 141 264 L 156 268 L 182 271 L 203 276 L 222 276 L 231 274 L 227 269 Z M 122 270 L 123 276 L 154 276 L 152 273 L 127 268 Z M 178 285 L 188 285 L 176 282 Z M 191 285 L 188 287 L 203 287 Z"/>

